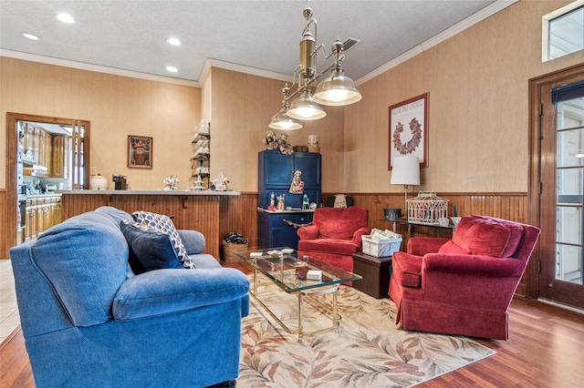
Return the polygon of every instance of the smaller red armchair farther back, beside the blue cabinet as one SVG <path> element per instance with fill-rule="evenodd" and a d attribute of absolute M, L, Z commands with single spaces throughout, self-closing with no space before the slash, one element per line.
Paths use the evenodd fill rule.
<path fill-rule="evenodd" d="M 361 236 L 369 234 L 368 217 L 368 210 L 358 206 L 314 210 L 312 225 L 297 231 L 298 256 L 308 255 L 352 272 L 352 254 L 361 251 Z"/>

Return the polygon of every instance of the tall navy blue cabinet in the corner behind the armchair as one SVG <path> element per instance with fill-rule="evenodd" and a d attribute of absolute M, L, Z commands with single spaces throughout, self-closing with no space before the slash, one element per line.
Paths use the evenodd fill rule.
<path fill-rule="evenodd" d="M 294 178 L 294 171 L 302 172 L 304 193 L 288 192 Z M 307 224 L 312 221 L 313 210 L 302 209 L 304 194 L 309 203 L 320 203 L 321 158 L 320 154 L 294 152 L 284 155 L 278 150 L 264 150 L 258 154 L 257 188 L 257 233 L 260 248 L 290 247 L 297 249 L 297 229 L 287 221 Z M 266 210 L 271 194 L 275 197 L 285 194 L 284 211 Z M 277 200 L 276 200 L 277 204 Z"/>

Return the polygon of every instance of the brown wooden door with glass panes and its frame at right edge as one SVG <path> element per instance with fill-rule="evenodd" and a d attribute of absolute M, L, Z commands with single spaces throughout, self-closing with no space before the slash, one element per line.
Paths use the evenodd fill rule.
<path fill-rule="evenodd" d="M 584 65 L 530 81 L 533 220 L 528 295 L 584 309 Z"/>

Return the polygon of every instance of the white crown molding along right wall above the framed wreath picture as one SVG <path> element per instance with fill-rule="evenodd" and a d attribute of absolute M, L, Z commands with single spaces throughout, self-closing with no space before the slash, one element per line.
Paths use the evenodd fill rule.
<path fill-rule="evenodd" d="M 444 30 L 437 36 L 433 36 L 432 38 L 423 42 L 421 45 L 413 47 L 411 50 L 405 52 L 401 56 L 396 57 L 395 59 L 391 60 L 385 65 L 376 68 L 375 70 L 371 71 L 370 73 L 366 74 L 363 77 L 360 77 L 355 81 L 355 84 L 361 85 L 375 77 L 381 76 L 381 74 L 385 73 L 391 68 L 398 66 L 409 59 L 412 59 L 412 57 L 414 56 L 422 54 L 422 52 L 429 49 L 430 47 L 442 43 L 444 40 L 452 36 L 455 36 L 458 33 L 463 32 L 466 28 L 474 26 L 475 24 L 485 20 L 487 17 L 495 15 L 497 12 L 505 9 L 507 6 L 514 5 L 518 1 L 519 0 L 496 0 L 495 3 L 485 6 L 485 8 L 481 9 L 479 12 L 475 13 L 474 15 L 468 16 L 463 21 Z"/>

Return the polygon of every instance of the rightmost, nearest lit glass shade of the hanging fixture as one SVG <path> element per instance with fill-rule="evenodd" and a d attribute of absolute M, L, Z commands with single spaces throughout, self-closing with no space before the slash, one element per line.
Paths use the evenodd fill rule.
<path fill-rule="evenodd" d="M 330 76 L 318 84 L 314 94 L 314 100 L 318 104 L 328 106 L 349 105 L 360 99 L 361 94 L 353 80 L 345 77 L 339 68 L 333 69 Z"/>

